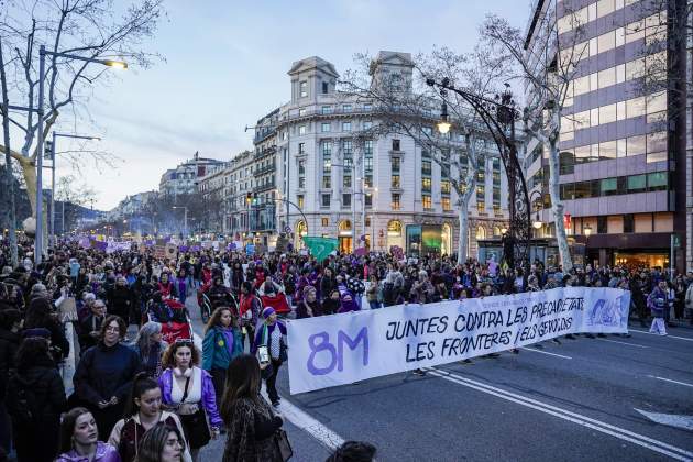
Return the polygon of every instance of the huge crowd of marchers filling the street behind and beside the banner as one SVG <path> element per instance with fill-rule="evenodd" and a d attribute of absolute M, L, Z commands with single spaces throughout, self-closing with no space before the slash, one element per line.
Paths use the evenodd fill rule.
<path fill-rule="evenodd" d="M 607 286 L 630 290 L 630 312 L 642 324 L 651 318 L 654 332 L 693 323 L 693 274 L 659 268 L 563 272 L 535 262 L 524 275 L 447 256 L 334 254 L 317 262 L 305 253 L 212 249 L 163 258 L 136 245 L 107 254 L 73 241 L 34 267 L 30 242 L 21 243 L 15 266 L 6 241 L 0 250 L 0 448 L 20 462 L 196 461 L 222 436 L 224 461 L 286 460 L 276 387 L 289 354 L 285 317 Z M 191 332 L 170 337 L 197 294 L 211 305 L 198 344 Z M 62 367 L 70 348 L 72 383 Z M 373 446 L 351 441 L 329 460 L 374 455 Z"/>

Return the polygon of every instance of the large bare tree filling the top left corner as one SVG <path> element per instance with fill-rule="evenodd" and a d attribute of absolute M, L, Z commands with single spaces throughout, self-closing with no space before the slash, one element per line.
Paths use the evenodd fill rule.
<path fill-rule="evenodd" d="M 105 67 L 70 57 L 46 56 L 44 120 L 36 120 L 38 106 L 38 50 L 45 45 L 53 53 L 65 53 L 86 59 L 124 59 L 147 67 L 157 55 L 141 50 L 164 14 L 163 0 L 133 0 L 123 9 L 113 0 L 16 0 L 0 14 L 0 53 L 6 57 L 8 95 L 3 103 L 29 108 L 28 112 L 6 113 L 9 122 L 23 136 L 21 145 L 0 144 L 19 163 L 35 215 L 36 156 L 38 124 L 44 124 L 44 138 L 66 111 L 74 120 L 88 117 L 86 102 L 91 86 L 108 79 Z M 103 153 L 92 153 L 101 162 Z"/>

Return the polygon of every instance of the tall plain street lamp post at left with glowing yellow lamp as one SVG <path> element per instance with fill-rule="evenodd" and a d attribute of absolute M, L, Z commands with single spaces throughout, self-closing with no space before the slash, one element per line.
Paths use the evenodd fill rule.
<path fill-rule="evenodd" d="M 95 59 L 86 58 L 82 56 L 70 55 L 67 53 L 48 52 L 45 45 L 41 45 L 38 48 L 38 128 L 36 130 L 36 136 L 38 139 L 38 146 L 36 153 L 36 237 L 34 238 L 34 265 L 37 267 L 43 260 L 43 118 L 44 111 L 44 80 L 46 74 L 46 55 L 53 57 L 65 57 L 85 63 L 98 63 L 109 67 L 116 67 L 119 69 L 127 69 L 128 64 L 121 61 L 112 59 Z"/>

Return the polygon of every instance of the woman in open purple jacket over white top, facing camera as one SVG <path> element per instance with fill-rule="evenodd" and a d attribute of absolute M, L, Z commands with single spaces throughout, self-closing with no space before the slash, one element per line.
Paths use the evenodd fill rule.
<path fill-rule="evenodd" d="M 162 403 L 180 418 L 194 461 L 199 449 L 219 436 L 222 425 L 211 375 L 199 364 L 199 350 L 191 340 L 180 339 L 164 353 L 166 370 L 158 377 Z"/>

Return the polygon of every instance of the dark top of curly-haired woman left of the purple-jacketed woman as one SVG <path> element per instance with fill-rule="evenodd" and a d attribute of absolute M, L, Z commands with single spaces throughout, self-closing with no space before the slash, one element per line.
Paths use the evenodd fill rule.
<path fill-rule="evenodd" d="M 121 343 L 107 346 L 101 342 L 87 350 L 79 360 L 74 378 L 75 393 L 94 406 L 113 396 L 124 403 L 140 369 L 140 358 L 131 348 Z"/>

